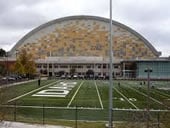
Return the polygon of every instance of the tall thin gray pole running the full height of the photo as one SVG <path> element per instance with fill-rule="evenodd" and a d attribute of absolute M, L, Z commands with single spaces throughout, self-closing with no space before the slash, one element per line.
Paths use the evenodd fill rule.
<path fill-rule="evenodd" d="M 112 36 L 113 36 L 113 30 L 112 30 L 112 0 L 110 0 L 110 43 L 109 43 L 109 56 L 110 56 L 110 72 L 109 72 L 109 128 L 113 128 L 113 101 L 112 101 L 112 90 L 113 90 L 113 47 L 112 47 Z"/>

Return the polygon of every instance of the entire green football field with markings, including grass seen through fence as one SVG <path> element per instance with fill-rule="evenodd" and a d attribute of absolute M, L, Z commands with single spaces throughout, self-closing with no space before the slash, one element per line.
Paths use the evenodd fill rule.
<path fill-rule="evenodd" d="M 159 112 L 169 114 L 170 82 L 151 81 L 150 86 L 152 117 L 157 117 Z M 41 86 L 36 80 L 1 91 L 10 120 L 108 120 L 109 81 L 106 80 L 42 80 Z M 113 119 L 146 120 L 146 114 L 141 112 L 147 110 L 147 99 L 146 81 L 114 80 Z"/>

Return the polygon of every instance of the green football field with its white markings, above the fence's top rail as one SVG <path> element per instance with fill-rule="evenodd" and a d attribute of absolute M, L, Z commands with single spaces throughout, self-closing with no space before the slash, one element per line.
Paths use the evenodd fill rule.
<path fill-rule="evenodd" d="M 150 109 L 166 110 L 170 100 L 170 82 L 152 81 L 150 85 Z M 11 90 L 10 90 L 11 89 Z M 46 80 L 11 87 L 7 103 L 20 106 L 42 106 L 91 109 L 107 109 L 109 81 L 102 80 Z M 113 108 L 147 108 L 147 82 L 114 81 Z"/>

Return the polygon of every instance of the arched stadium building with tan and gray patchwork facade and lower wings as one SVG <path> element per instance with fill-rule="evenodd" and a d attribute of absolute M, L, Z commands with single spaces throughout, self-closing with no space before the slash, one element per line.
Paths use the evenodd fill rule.
<path fill-rule="evenodd" d="M 170 78 L 170 60 L 161 58 L 149 41 L 133 29 L 113 21 L 113 73 L 116 78 Z M 48 76 L 61 73 L 85 76 L 109 75 L 109 19 L 71 16 L 43 24 L 19 40 L 11 49 L 26 49 L 36 60 L 37 72 Z"/>

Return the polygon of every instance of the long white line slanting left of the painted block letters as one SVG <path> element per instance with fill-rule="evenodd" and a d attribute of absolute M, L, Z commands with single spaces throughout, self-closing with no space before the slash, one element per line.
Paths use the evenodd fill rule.
<path fill-rule="evenodd" d="M 28 92 L 28 93 L 25 93 L 25 94 L 23 94 L 23 95 L 21 95 L 21 96 L 15 97 L 15 98 L 13 98 L 13 99 L 11 99 L 11 100 L 8 100 L 7 103 L 12 102 L 12 101 L 17 100 L 17 99 L 20 99 L 21 97 L 24 97 L 24 96 L 26 96 L 26 95 L 29 95 L 29 94 L 31 94 L 31 93 L 33 93 L 33 92 L 36 92 L 36 91 L 38 91 L 38 90 L 41 90 L 41 89 L 43 89 L 43 88 L 45 88 L 45 87 L 48 87 L 48 86 L 50 86 L 50 85 L 52 85 L 52 84 L 55 84 L 55 83 L 57 83 L 57 82 L 59 82 L 59 81 L 55 81 L 55 82 L 53 82 L 53 83 L 47 84 L 47 85 L 45 85 L 45 86 L 42 86 L 42 87 L 37 88 L 37 89 L 35 89 L 35 90 L 32 90 L 32 91 L 30 91 L 30 92 Z"/>

